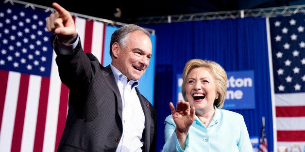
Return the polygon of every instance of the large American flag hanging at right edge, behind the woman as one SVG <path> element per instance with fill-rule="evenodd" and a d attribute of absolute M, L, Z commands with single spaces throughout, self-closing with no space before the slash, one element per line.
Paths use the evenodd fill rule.
<path fill-rule="evenodd" d="M 276 144 L 305 147 L 305 15 L 269 18 Z M 276 151 L 276 150 L 274 150 Z M 302 151 L 303 152 L 303 151 Z"/>

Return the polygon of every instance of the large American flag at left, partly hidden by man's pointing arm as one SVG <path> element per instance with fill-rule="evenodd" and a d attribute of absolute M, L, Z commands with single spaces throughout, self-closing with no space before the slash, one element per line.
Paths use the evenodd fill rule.
<path fill-rule="evenodd" d="M 60 81 L 52 33 L 45 28 L 49 15 L 0 4 L 0 152 L 57 150 L 68 111 L 68 88 Z M 105 24 L 74 19 L 84 49 L 102 62 Z"/>

